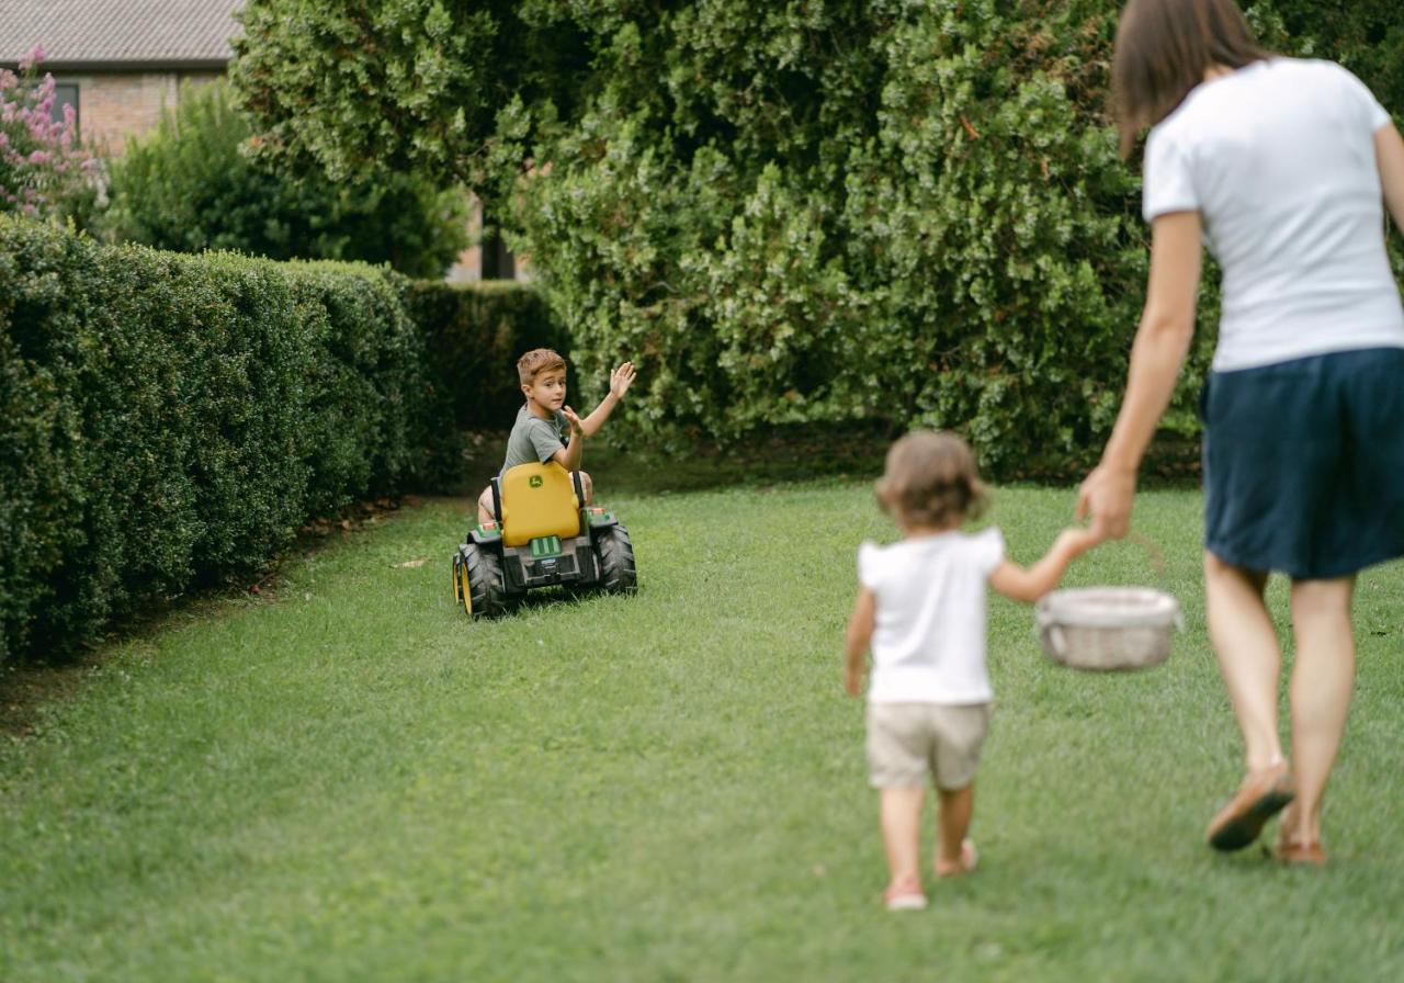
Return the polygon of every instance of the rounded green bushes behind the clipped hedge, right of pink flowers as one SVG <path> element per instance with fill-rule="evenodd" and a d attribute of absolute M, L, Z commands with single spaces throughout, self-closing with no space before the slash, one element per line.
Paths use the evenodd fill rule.
<path fill-rule="evenodd" d="M 112 164 L 105 223 L 119 240 L 184 253 L 389 263 L 439 277 L 468 244 L 466 198 L 409 176 L 295 177 L 243 150 L 253 135 L 225 86 L 185 88 L 157 131 Z"/>

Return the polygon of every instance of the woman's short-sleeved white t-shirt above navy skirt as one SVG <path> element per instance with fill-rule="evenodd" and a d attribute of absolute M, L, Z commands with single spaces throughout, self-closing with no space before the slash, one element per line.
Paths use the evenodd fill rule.
<path fill-rule="evenodd" d="M 1390 122 L 1331 62 L 1275 58 L 1191 90 L 1146 143 L 1146 220 L 1198 211 L 1223 270 L 1220 372 L 1404 347 L 1375 132 Z"/>

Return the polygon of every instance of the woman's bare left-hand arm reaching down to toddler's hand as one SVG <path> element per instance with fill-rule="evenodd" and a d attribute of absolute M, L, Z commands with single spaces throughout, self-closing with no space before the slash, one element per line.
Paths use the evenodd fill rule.
<path fill-rule="evenodd" d="M 1150 282 L 1132 345 L 1126 397 L 1102 462 L 1082 482 L 1077 497 L 1077 518 L 1091 514 L 1099 539 L 1120 539 L 1130 528 L 1136 469 L 1170 406 L 1195 334 L 1202 235 L 1199 212 L 1171 212 L 1151 223 Z"/>

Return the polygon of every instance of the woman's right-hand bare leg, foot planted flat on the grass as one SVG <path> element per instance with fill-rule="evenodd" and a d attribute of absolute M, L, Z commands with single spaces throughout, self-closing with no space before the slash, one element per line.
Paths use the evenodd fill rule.
<path fill-rule="evenodd" d="M 1297 800 L 1283 834 L 1302 845 L 1321 840 L 1321 796 L 1335 764 L 1355 687 L 1351 600 L 1355 577 L 1292 581 L 1292 761 Z"/>

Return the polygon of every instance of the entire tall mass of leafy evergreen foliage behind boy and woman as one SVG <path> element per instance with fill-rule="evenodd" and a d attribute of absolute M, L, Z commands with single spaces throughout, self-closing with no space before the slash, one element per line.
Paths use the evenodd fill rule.
<path fill-rule="evenodd" d="M 414 161 L 501 202 L 581 374 L 640 365 L 611 433 L 924 423 L 1019 475 L 1095 456 L 1140 315 L 1139 161 L 1106 117 L 1119 8 L 254 0 L 234 77 L 278 150 Z M 1248 14 L 1398 110 L 1401 11 Z M 1206 279 L 1167 417 L 1185 435 L 1216 309 Z"/>

